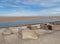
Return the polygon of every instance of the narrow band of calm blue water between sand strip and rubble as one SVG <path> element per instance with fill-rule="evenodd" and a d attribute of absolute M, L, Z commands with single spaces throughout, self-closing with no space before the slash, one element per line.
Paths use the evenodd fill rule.
<path fill-rule="evenodd" d="M 55 22 L 59 20 L 24 20 L 24 21 L 8 21 L 8 22 L 0 22 L 0 28 L 9 27 L 9 26 L 22 26 L 28 24 L 37 24 L 37 23 L 48 23 Z"/>

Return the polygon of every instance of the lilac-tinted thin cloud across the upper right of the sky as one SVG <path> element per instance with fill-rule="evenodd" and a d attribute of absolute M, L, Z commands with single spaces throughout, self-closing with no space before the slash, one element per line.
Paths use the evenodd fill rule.
<path fill-rule="evenodd" d="M 57 3 L 60 2 L 60 0 L 16 0 L 16 2 L 22 2 L 24 4 L 30 4 L 30 5 L 35 4 L 43 7 L 60 5 L 59 3 Z"/>

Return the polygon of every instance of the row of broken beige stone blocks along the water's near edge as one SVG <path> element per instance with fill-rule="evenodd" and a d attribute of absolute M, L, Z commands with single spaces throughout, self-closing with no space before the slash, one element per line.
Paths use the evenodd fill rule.
<path fill-rule="evenodd" d="M 28 28 L 28 26 L 0 28 L 0 35 L 3 34 L 12 36 L 13 34 L 17 34 L 18 37 L 22 39 L 38 39 L 38 35 L 44 35 L 46 33 L 53 32 L 53 30 L 48 30 L 47 25 L 51 25 L 53 30 L 60 30 L 60 25 L 52 25 L 47 23 L 46 25 L 45 24 L 30 25 L 31 29 Z"/>

